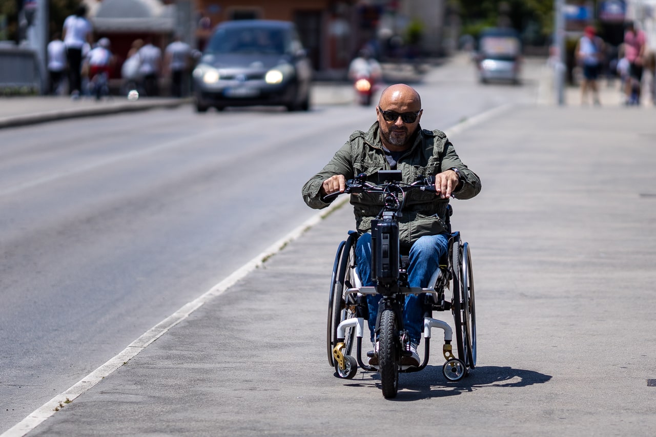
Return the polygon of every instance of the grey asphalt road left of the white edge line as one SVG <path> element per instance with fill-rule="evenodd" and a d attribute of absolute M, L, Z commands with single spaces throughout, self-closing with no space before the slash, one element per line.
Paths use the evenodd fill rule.
<path fill-rule="evenodd" d="M 417 89 L 443 129 L 537 93 L 464 62 Z M 0 430 L 312 216 L 302 182 L 372 121 L 187 106 L 0 131 Z"/>

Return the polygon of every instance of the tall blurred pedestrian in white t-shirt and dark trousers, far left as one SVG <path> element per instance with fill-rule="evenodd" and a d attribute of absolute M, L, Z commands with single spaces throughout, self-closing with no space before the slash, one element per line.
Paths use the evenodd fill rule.
<path fill-rule="evenodd" d="M 64 44 L 68 58 L 68 87 L 73 98 L 79 97 L 82 89 L 81 67 L 83 60 L 83 47 L 85 43 L 92 43 L 93 28 L 87 20 L 87 7 L 79 5 L 75 14 L 64 20 Z"/>

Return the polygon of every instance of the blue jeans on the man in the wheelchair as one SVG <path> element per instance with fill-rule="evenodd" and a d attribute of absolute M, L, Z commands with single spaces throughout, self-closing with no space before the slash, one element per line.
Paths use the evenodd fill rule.
<path fill-rule="evenodd" d="M 440 258 L 446 255 L 448 247 L 449 234 L 423 236 L 415 241 L 409 254 L 408 285 L 410 287 L 428 287 L 428 281 L 440 265 Z M 376 285 L 375 278 L 371 278 L 371 234 L 369 233 L 358 238 L 356 262 L 362 285 L 365 287 Z M 424 330 L 420 296 L 422 295 L 406 295 L 403 310 L 403 325 L 410 335 L 410 341 L 415 344 L 419 344 Z M 382 295 L 367 295 L 369 331 L 371 331 L 372 342 L 374 341 L 378 302 L 381 298 Z"/>

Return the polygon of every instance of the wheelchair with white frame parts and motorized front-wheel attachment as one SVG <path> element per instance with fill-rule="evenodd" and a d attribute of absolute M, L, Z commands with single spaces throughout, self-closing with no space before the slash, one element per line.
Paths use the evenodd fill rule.
<path fill-rule="evenodd" d="M 398 201 L 398 195 L 395 192 L 403 192 L 401 196 L 404 196 L 410 188 L 430 191 L 430 180 L 422 180 L 408 185 L 400 182 L 400 173 L 396 174 L 394 178 L 398 178 L 398 181 L 387 181 L 379 185 L 365 182 L 365 175 L 359 175 L 355 180 L 347 181 L 347 193 L 379 191 L 386 196 L 386 207 L 379 216 L 384 220 L 373 222 L 372 234 L 384 233 L 385 224 L 392 224 L 391 229 L 394 231 L 393 225 L 396 220 L 394 211 L 400 211 L 403 205 L 402 201 Z M 391 190 L 390 187 L 392 187 Z M 445 362 L 442 366 L 442 373 L 447 381 L 460 381 L 468 375 L 470 369 L 476 367 L 476 305 L 472 255 L 469 244 L 462 241 L 460 232 L 451 232 L 450 216 L 452 212 L 451 205 L 449 205 L 445 224 L 450 236 L 447 257 L 443 260 L 445 264 L 442 264 L 442 260 L 440 261 L 438 270 L 434 272 L 430 280 L 432 286 L 428 288 L 408 287 L 407 283 L 403 283 L 404 278 L 407 278 L 405 276 L 407 257 L 401 256 L 398 249 L 382 251 L 380 247 L 377 248 L 374 243 L 376 240 L 374 235 L 372 235 L 372 274 L 377 272 L 377 268 L 380 270 L 380 265 L 376 265 L 377 258 L 380 259 L 381 256 L 386 255 L 390 256 L 390 259 L 386 259 L 384 262 L 390 262 L 391 268 L 398 269 L 398 274 L 393 274 L 392 280 L 387 283 L 384 278 L 380 278 L 380 274 L 376 274 L 378 285 L 364 287 L 359 277 L 355 255 L 358 232 L 349 231 L 348 238 L 339 243 L 331 276 L 326 332 L 328 362 L 335 369 L 337 377 L 352 379 L 358 372 L 358 368 L 378 372 L 383 396 L 385 398 L 396 397 L 399 373 L 420 371 L 428 365 L 431 329 L 434 327 L 442 329 L 444 333 L 442 354 Z M 387 241 L 394 241 L 394 232 L 391 236 L 392 238 Z M 383 238 L 386 237 L 389 236 L 383 236 Z M 398 228 L 396 242 L 396 247 L 398 247 Z M 369 318 L 366 297 L 377 293 L 387 296 L 383 299 L 390 302 L 394 302 L 396 299 L 399 303 L 401 299 L 404 301 L 407 294 L 421 293 L 420 295 L 423 296 L 424 358 L 418 367 L 400 364 L 401 356 L 409 354 L 409 338 L 403 331 L 399 304 L 396 305 L 396 309 L 394 304 L 379 307 L 376 326 L 376 338 L 379 341 L 379 365 L 372 366 L 363 362 L 364 320 Z M 447 311 L 453 314 L 453 328 L 449 323 L 433 318 L 433 312 Z M 457 356 L 453 354 L 453 331 L 455 331 Z"/>

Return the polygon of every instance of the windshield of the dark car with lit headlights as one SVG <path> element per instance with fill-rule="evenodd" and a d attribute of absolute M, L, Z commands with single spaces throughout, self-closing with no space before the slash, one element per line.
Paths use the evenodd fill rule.
<path fill-rule="evenodd" d="M 207 46 L 209 53 L 284 54 L 287 49 L 283 29 L 218 29 Z"/>

